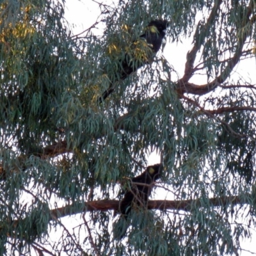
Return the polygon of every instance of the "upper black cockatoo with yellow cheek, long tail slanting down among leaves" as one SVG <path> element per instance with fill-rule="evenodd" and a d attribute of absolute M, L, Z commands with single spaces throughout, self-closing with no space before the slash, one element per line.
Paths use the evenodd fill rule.
<path fill-rule="evenodd" d="M 120 72 L 119 74 L 116 74 L 116 77 L 118 77 L 119 80 L 124 80 L 127 76 L 132 74 L 132 72 L 135 72 L 136 70 L 138 70 L 138 68 L 142 67 L 150 60 L 152 60 L 154 56 L 156 56 L 156 53 L 157 51 L 159 51 L 163 42 L 163 38 L 166 33 L 167 23 L 168 22 L 166 20 L 152 20 L 148 24 L 147 28 L 145 29 L 145 33 L 141 35 L 139 39 L 145 40 L 148 46 L 148 51 L 145 51 L 144 54 L 141 54 L 142 57 L 140 55 L 140 59 L 138 59 L 136 54 L 125 54 L 124 60 L 120 65 Z M 138 40 L 136 42 L 133 42 L 134 45 L 136 45 L 137 43 Z M 111 81 L 111 86 L 109 86 L 109 89 L 102 93 L 102 97 L 100 97 L 99 99 L 100 102 L 106 99 L 109 94 L 113 92 L 113 90 L 115 89 L 115 83 L 116 81 Z"/>

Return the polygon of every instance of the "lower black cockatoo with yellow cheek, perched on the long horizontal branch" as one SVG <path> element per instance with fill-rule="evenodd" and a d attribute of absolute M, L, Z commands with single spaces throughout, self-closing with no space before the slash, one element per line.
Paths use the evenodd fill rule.
<path fill-rule="evenodd" d="M 148 166 L 145 172 L 131 179 L 131 188 L 125 192 L 124 198 L 120 202 L 119 211 L 127 218 L 132 206 L 147 207 L 148 197 L 151 194 L 154 182 L 159 179 L 163 166 L 154 164 Z"/>

